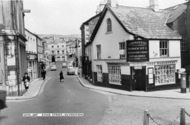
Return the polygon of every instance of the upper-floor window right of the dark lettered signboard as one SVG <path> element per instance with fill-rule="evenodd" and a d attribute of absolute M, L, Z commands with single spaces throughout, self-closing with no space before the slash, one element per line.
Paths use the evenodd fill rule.
<path fill-rule="evenodd" d="M 169 56 L 169 47 L 168 47 L 168 41 L 162 40 L 160 41 L 160 56 Z"/>

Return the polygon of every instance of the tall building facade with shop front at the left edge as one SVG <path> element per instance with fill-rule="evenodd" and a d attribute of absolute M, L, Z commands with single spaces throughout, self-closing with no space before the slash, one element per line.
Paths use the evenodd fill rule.
<path fill-rule="evenodd" d="M 24 9 L 22 0 L 6 0 L 0 3 L 1 86 L 8 95 L 22 94 L 22 76 L 27 70 L 24 32 Z"/>

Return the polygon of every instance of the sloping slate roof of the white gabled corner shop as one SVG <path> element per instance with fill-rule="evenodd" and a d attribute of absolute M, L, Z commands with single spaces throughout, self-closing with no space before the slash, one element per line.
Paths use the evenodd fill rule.
<path fill-rule="evenodd" d="M 127 6 L 110 7 L 110 10 L 133 34 L 147 39 L 181 39 L 166 25 L 168 11 L 155 12 L 149 8 Z"/>

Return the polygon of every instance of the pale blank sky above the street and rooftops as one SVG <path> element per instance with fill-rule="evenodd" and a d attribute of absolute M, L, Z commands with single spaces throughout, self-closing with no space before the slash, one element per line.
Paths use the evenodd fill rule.
<path fill-rule="evenodd" d="M 83 22 L 95 15 L 102 0 L 23 0 L 25 27 L 37 34 L 80 34 Z M 117 0 L 119 5 L 147 7 L 149 0 Z M 158 0 L 159 8 L 167 8 L 185 0 Z"/>

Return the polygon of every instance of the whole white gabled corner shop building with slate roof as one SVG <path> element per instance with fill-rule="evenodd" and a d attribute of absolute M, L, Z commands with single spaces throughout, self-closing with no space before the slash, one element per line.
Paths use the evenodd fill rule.
<path fill-rule="evenodd" d="M 111 6 L 108 0 L 99 14 L 81 26 L 83 74 L 90 68 L 87 77 L 94 84 L 126 90 L 178 86 L 181 36 L 167 26 L 170 14 L 159 10 L 155 0 L 148 8 Z M 88 41 L 85 27 L 92 31 Z"/>

